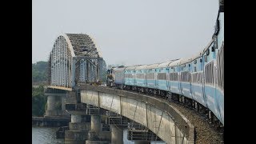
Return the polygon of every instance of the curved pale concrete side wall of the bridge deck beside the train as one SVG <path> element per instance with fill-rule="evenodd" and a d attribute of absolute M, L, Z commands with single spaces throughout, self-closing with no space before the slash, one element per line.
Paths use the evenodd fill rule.
<path fill-rule="evenodd" d="M 194 126 L 169 102 L 106 86 L 76 86 L 81 102 L 133 119 L 167 143 L 194 143 Z"/>

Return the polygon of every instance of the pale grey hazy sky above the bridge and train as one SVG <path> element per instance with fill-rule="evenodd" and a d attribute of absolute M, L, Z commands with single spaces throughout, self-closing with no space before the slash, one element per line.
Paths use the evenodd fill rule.
<path fill-rule="evenodd" d="M 188 58 L 214 34 L 218 0 L 33 0 L 32 63 L 60 34 L 89 34 L 107 65 Z"/>

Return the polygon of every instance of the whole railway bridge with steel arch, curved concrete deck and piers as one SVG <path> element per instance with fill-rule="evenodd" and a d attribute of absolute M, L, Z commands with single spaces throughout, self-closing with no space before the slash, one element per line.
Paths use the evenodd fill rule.
<path fill-rule="evenodd" d="M 219 2 L 224 11 L 224 1 Z M 167 99 L 101 85 L 105 72 L 106 62 L 93 38 L 58 36 L 49 57 L 45 117 L 70 118 L 65 143 L 119 144 L 127 130 L 125 136 L 134 143 L 192 144 L 209 132 L 210 128 L 204 131 L 197 130 L 199 124 L 194 126 L 204 123 L 203 118 L 194 120 Z M 59 103 L 61 108 L 57 108 Z M 214 136 L 208 137 L 210 143 Z"/>

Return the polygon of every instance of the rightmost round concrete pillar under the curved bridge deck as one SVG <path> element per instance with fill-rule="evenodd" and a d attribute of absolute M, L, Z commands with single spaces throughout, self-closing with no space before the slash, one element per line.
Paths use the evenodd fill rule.
<path fill-rule="evenodd" d="M 111 143 L 122 144 L 123 143 L 123 130 L 118 126 L 110 125 L 111 130 Z"/>

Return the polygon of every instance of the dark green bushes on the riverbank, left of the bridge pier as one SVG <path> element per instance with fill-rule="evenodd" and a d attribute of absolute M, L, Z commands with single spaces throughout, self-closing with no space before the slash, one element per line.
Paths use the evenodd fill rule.
<path fill-rule="evenodd" d="M 43 116 L 47 99 L 44 96 L 43 85 L 38 87 L 32 86 L 32 116 Z"/>

